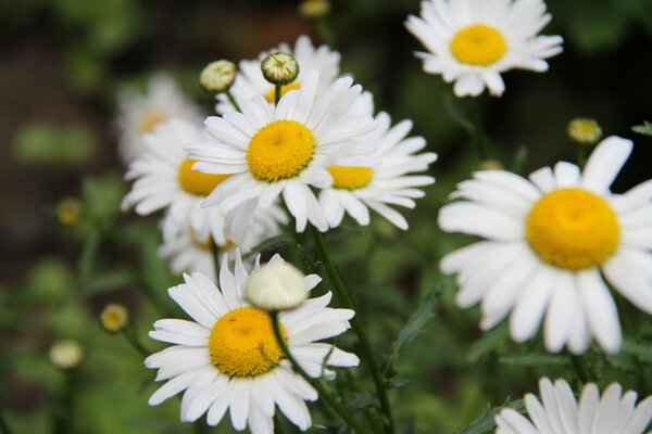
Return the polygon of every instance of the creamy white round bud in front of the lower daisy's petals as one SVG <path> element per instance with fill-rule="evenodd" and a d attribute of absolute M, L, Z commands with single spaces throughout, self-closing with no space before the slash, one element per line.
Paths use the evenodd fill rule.
<path fill-rule="evenodd" d="M 261 309 L 292 309 L 308 298 L 303 278 L 303 273 L 290 264 L 266 264 L 251 273 L 244 296 Z"/>

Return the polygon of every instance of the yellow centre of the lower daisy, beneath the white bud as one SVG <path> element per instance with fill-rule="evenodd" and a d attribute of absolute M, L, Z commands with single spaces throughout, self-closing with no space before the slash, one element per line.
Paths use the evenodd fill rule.
<path fill-rule="evenodd" d="M 287 340 L 285 328 L 279 326 Z M 211 331 L 209 353 L 213 365 L 229 376 L 262 375 L 283 356 L 269 315 L 255 307 L 240 307 L 220 318 Z"/>

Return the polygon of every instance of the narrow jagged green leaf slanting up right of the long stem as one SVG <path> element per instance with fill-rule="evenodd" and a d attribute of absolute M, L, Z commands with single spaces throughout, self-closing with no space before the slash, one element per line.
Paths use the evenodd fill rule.
<path fill-rule="evenodd" d="M 440 283 L 426 295 L 422 304 L 405 323 L 405 327 L 399 334 L 399 339 L 391 345 L 391 348 L 389 348 L 389 353 L 385 356 L 385 361 L 383 363 L 383 374 L 386 378 L 393 372 L 393 367 L 408 344 L 414 341 L 414 339 L 423 332 L 428 320 L 435 317 L 432 309 L 439 299 L 439 295 L 443 292 L 443 286 L 444 284 Z"/>

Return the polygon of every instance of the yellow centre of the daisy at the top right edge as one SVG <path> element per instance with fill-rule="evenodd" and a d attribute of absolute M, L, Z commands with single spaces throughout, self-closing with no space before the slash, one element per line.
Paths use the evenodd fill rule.
<path fill-rule="evenodd" d="M 474 24 L 455 34 L 451 52 L 462 63 L 487 66 L 507 51 L 505 37 L 492 26 Z"/>

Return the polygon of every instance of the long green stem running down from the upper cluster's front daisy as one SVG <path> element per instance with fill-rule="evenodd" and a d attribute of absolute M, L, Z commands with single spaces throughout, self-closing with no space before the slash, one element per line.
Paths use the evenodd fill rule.
<path fill-rule="evenodd" d="M 315 240 L 315 244 L 317 246 L 317 252 L 319 254 L 319 258 L 324 263 L 324 267 L 326 268 L 326 272 L 330 278 L 335 291 L 337 292 L 340 299 L 343 302 L 344 307 L 355 310 L 353 307 L 353 301 L 349 295 L 349 291 L 347 291 L 347 286 L 344 286 L 344 282 L 339 276 L 337 268 L 330 260 L 330 255 L 328 254 L 328 248 L 326 247 L 326 240 L 324 240 L 324 235 L 317 228 L 310 225 L 310 230 Z M 376 386 L 376 393 L 378 395 L 378 400 L 380 401 L 380 410 L 383 414 L 386 417 L 385 421 L 385 432 L 393 433 L 393 418 L 391 414 L 391 407 L 389 405 L 389 399 L 387 398 L 387 390 L 385 387 L 385 381 L 383 380 L 383 375 L 380 373 L 380 368 L 378 361 L 376 360 L 376 356 L 374 355 L 374 349 L 372 348 L 372 344 L 369 343 L 369 339 L 367 337 L 363 326 L 360 323 L 360 316 L 355 315 L 351 319 L 351 326 L 353 327 L 353 331 L 358 334 L 358 339 L 360 341 L 360 346 L 362 347 L 362 353 L 364 353 L 365 359 L 369 365 L 369 369 L 372 371 L 372 376 L 374 379 L 374 385 Z"/>

